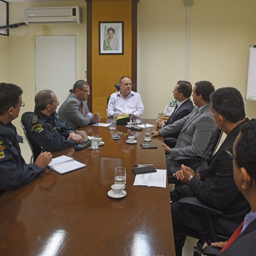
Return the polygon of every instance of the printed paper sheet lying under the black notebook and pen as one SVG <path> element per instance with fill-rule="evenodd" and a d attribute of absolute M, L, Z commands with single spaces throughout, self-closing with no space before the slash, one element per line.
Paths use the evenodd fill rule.
<path fill-rule="evenodd" d="M 133 185 L 166 188 L 166 170 L 156 170 L 156 173 L 137 174 Z"/>

